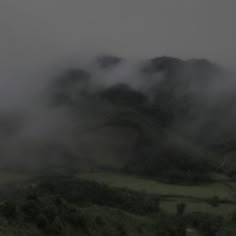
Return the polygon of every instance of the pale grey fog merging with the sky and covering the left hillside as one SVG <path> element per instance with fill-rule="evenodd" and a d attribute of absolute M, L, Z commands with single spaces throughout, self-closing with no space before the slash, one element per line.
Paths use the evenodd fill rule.
<path fill-rule="evenodd" d="M 47 89 L 67 67 L 88 70 L 93 91 L 128 83 L 148 96 L 165 78 L 159 73 L 143 83 L 139 69 L 149 58 L 204 58 L 234 69 L 235 7 L 233 0 L 2 0 L 0 112 L 3 120 L 16 116 L 20 122 L 13 135 L 1 134 L 8 162 L 28 162 L 44 144 L 64 145 L 75 153 L 73 130 L 82 128 L 91 114 L 101 118 L 98 108 L 85 108 L 87 103 L 82 103 L 76 122 L 67 107 L 48 105 Z M 92 60 L 103 53 L 125 62 L 110 72 L 100 71 Z M 234 91 L 234 76 L 220 75 L 204 99 L 212 106 Z"/>

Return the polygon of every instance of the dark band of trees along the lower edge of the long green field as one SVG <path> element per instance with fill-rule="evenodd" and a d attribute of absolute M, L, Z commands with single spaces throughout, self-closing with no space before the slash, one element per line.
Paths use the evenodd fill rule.
<path fill-rule="evenodd" d="M 81 206 L 97 204 L 126 210 L 136 214 L 152 214 L 159 212 L 157 196 L 133 193 L 128 190 L 118 190 L 106 185 L 78 180 L 76 178 L 50 178 L 42 182 L 39 188 L 43 192 L 59 194 L 69 202 Z"/>

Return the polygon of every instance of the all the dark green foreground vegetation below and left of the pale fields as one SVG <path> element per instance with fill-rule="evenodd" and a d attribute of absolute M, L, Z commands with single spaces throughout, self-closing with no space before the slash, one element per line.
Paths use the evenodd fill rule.
<path fill-rule="evenodd" d="M 0 233 L 184 236 L 187 227 L 194 227 L 203 235 L 213 236 L 224 224 L 220 216 L 186 214 L 185 203 L 176 206 L 176 215 L 170 215 L 160 208 L 157 196 L 74 177 L 49 177 L 36 182 L 2 199 Z"/>

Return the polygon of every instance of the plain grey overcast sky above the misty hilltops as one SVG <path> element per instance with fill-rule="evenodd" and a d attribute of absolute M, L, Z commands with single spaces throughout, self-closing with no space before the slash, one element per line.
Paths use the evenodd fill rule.
<path fill-rule="evenodd" d="M 235 0 L 0 0 L 0 68 L 80 52 L 236 67 Z"/>

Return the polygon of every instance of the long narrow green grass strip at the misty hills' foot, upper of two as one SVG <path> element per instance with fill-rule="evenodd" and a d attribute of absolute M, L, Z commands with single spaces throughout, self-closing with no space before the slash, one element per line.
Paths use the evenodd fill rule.
<path fill-rule="evenodd" d="M 119 188 L 127 188 L 142 191 L 149 194 L 170 195 L 180 197 L 194 197 L 200 199 L 218 196 L 219 198 L 234 200 L 232 191 L 222 182 L 214 182 L 202 185 L 176 185 L 165 184 L 156 180 L 125 174 L 113 174 L 104 172 L 84 173 L 79 177 L 94 180 L 100 183 Z"/>

